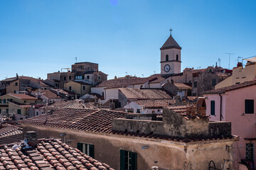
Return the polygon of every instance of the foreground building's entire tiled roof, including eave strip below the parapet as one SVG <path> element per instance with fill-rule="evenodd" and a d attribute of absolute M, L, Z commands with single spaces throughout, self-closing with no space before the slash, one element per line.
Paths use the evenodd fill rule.
<path fill-rule="evenodd" d="M 177 110 L 178 109 L 185 109 L 185 108 L 177 108 Z M 38 115 L 36 117 L 28 118 L 26 120 L 19 120 L 19 123 L 21 123 L 22 125 L 36 125 L 38 127 L 50 126 L 53 128 L 84 130 L 87 132 L 102 132 L 102 133 L 115 134 L 115 135 L 146 137 L 146 138 L 161 139 L 161 140 L 174 140 L 174 141 L 180 141 L 180 142 L 191 142 L 191 141 L 198 141 L 198 140 L 220 140 L 220 139 L 233 138 L 233 136 L 218 136 L 218 137 L 200 137 L 200 138 L 197 137 L 197 138 L 188 139 L 188 138 L 172 137 L 172 136 L 166 136 L 166 135 L 143 134 L 139 132 L 138 133 L 119 132 L 119 131 L 112 130 L 112 119 L 127 118 L 127 114 L 129 113 L 120 112 L 120 111 L 107 111 L 107 110 L 95 111 L 95 110 L 84 110 L 84 109 L 79 110 L 79 109 L 63 108 L 53 112 L 52 115 L 48 115 L 47 122 L 46 122 L 45 115 Z"/>

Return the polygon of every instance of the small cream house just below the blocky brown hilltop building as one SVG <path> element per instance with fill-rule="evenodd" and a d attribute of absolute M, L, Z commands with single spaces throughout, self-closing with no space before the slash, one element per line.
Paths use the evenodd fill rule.
<path fill-rule="evenodd" d="M 67 91 L 72 91 L 75 94 L 78 94 L 80 97 L 85 94 L 90 94 L 90 84 L 87 84 L 82 81 L 70 81 L 64 84 L 64 89 Z"/>

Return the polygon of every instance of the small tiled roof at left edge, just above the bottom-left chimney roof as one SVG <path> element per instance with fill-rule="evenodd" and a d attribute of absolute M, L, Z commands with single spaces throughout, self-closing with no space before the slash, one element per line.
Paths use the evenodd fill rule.
<path fill-rule="evenodd" d="M 23 140 L 22 128 L 18 125 L 4 123 L 0 126 L 0 145 Z"/>

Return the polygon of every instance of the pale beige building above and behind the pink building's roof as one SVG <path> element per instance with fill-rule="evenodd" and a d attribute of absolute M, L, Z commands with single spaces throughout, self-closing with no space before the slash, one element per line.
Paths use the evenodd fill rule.
<path fill-rule="evenodd" d="M 248 59 L 245 68 L 242 67 L 242 63 L 238 63 L 238 67 L 233 68 L 233 74 L 228 79 L 220 81 L 219 84 L 215 85 L 215 89 L 220 89 L 225 86 L 232 86 L 240 84 L 245 81 L 252 81 L 256 78 L 256 61 L 254 58 Z"/>

